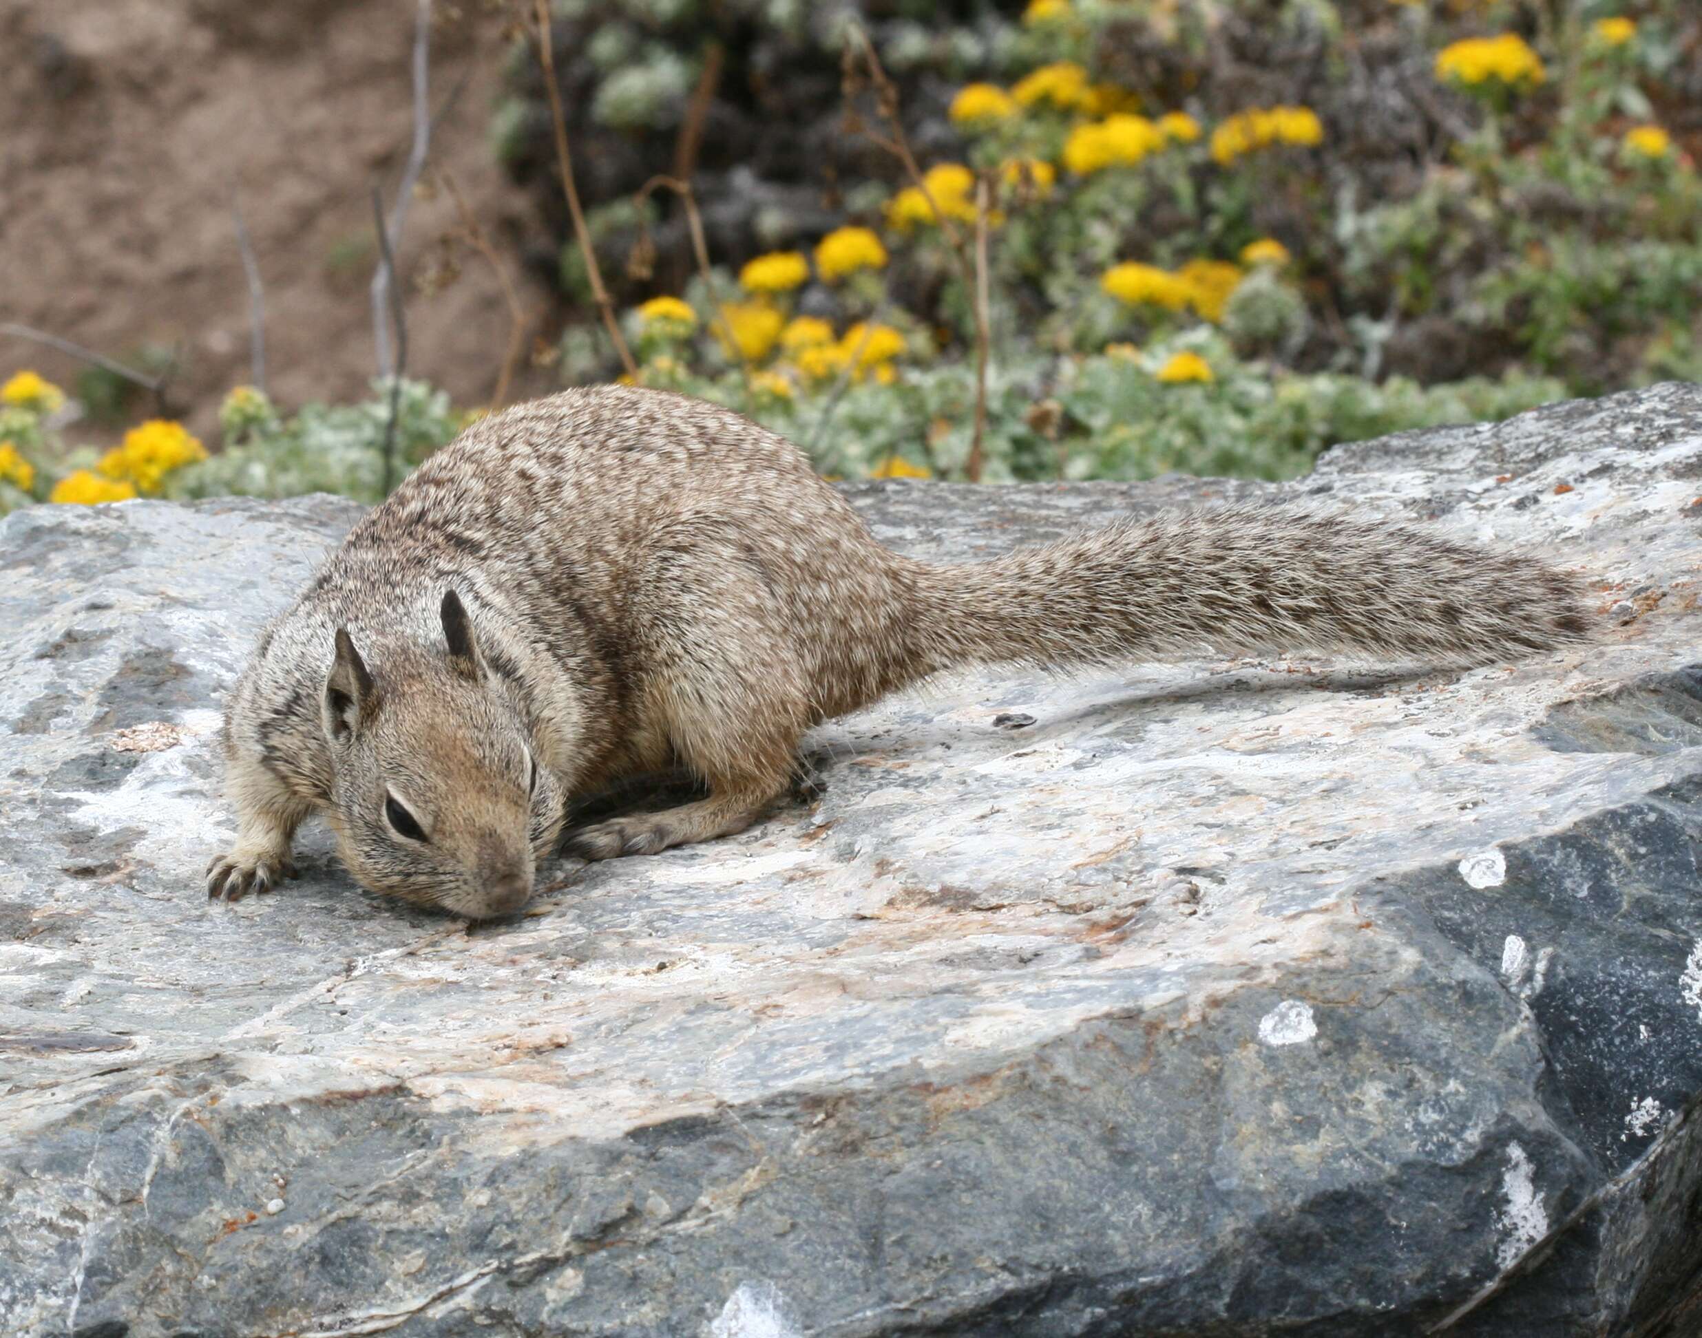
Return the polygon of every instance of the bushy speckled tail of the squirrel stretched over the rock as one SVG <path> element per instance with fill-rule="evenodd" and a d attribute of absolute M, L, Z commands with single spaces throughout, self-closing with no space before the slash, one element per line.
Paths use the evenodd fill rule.
<path fill-rule="evenodd" d="M 1579 582 L 1534 558 L 1259 506 L 1122 521 L 914 582 L 924 672 L 1210 652 L 1481 664 L 1590 637 Z"/>

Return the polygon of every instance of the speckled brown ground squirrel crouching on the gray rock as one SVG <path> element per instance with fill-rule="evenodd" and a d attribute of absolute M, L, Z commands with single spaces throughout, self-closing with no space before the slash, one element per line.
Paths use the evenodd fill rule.
<path fill-rule="evenodd" d="M 929 565 L 728 409 L 568 390 L 431 456 L 260 635 L 225 710 L 240 826 L 208 890 L 271 887 L 318 810 L 366 887 L 505 914 L 572 797 L 667 766 L 706 786 L 574 832 L 592 860 L 742 831 L 788 788 L 807 729 L 955 666 L 1207 649 L 1459 664 L 1585 633 L 1571 579 L 1530 558 L 1282 507 Z"/>

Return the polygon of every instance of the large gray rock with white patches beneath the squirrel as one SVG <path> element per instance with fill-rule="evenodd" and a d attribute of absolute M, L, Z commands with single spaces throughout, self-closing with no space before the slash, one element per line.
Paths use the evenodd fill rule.
<path fill-rule="evenodd" d="M 1545 548 L 1607 633 L 943 684 L 820 730 L 815 807 L 471 931 L 323 836 L 199 890 L 220 696 L 352 507 L 14 514 L 0 1329 L 1699 1331 L 1702 390 L 851 495 L 968 557 L 1302 494 Z"/>

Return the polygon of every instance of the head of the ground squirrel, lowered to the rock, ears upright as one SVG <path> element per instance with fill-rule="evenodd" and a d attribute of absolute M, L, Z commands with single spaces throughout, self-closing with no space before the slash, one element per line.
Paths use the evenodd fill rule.
<path fill-rule="evenodd" d="M 335 759 L 330 822 L 363 887 L 483 919 L 531 897 L 565 795 L 533 756 L 519 705 L 480 655 L 454 591 L 443 598 L 443 637 L 386 650 L 369 669 L 337 628 L 322 705 Z"/>

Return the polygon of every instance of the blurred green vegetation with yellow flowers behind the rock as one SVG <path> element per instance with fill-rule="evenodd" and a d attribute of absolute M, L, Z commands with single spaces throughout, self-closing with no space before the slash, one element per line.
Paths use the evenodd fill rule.
<path fill-rule="evenodd" d="M 405 71 L 420 10 L 381 10 L 369 44 Z M 422 10 L 427 60 L 471 53 L 483 106 L 460 106 L 465 70 L 437 97 L 483 121 L 477 153 L 512 194 L 482 218 L 441 148 L 408 186 L 393 136 L 391 220 L 403 194 L 437 220 L 388 238 L 417 334 L 403 375 L 342 402 L 243 376 L 175 405 L 182 351 L 145 332 L 136 375 L 66 388 L 9 342 L 0 507 L 371 500 L 494 402 L 614 378 L 730 403 L 832 477 L 989 482 L 1292 477 L 1339 441 L 1702 380 L 1688 0 Z M 369 220 L 323 260 L 356 276 L 356 320 L 385 264 Z M 466 286 L 505 320 L 485 322 L 471 395 L 468 351 L 429 334 Z M 274 303 L 266 329 L 296 318 Z"/>

